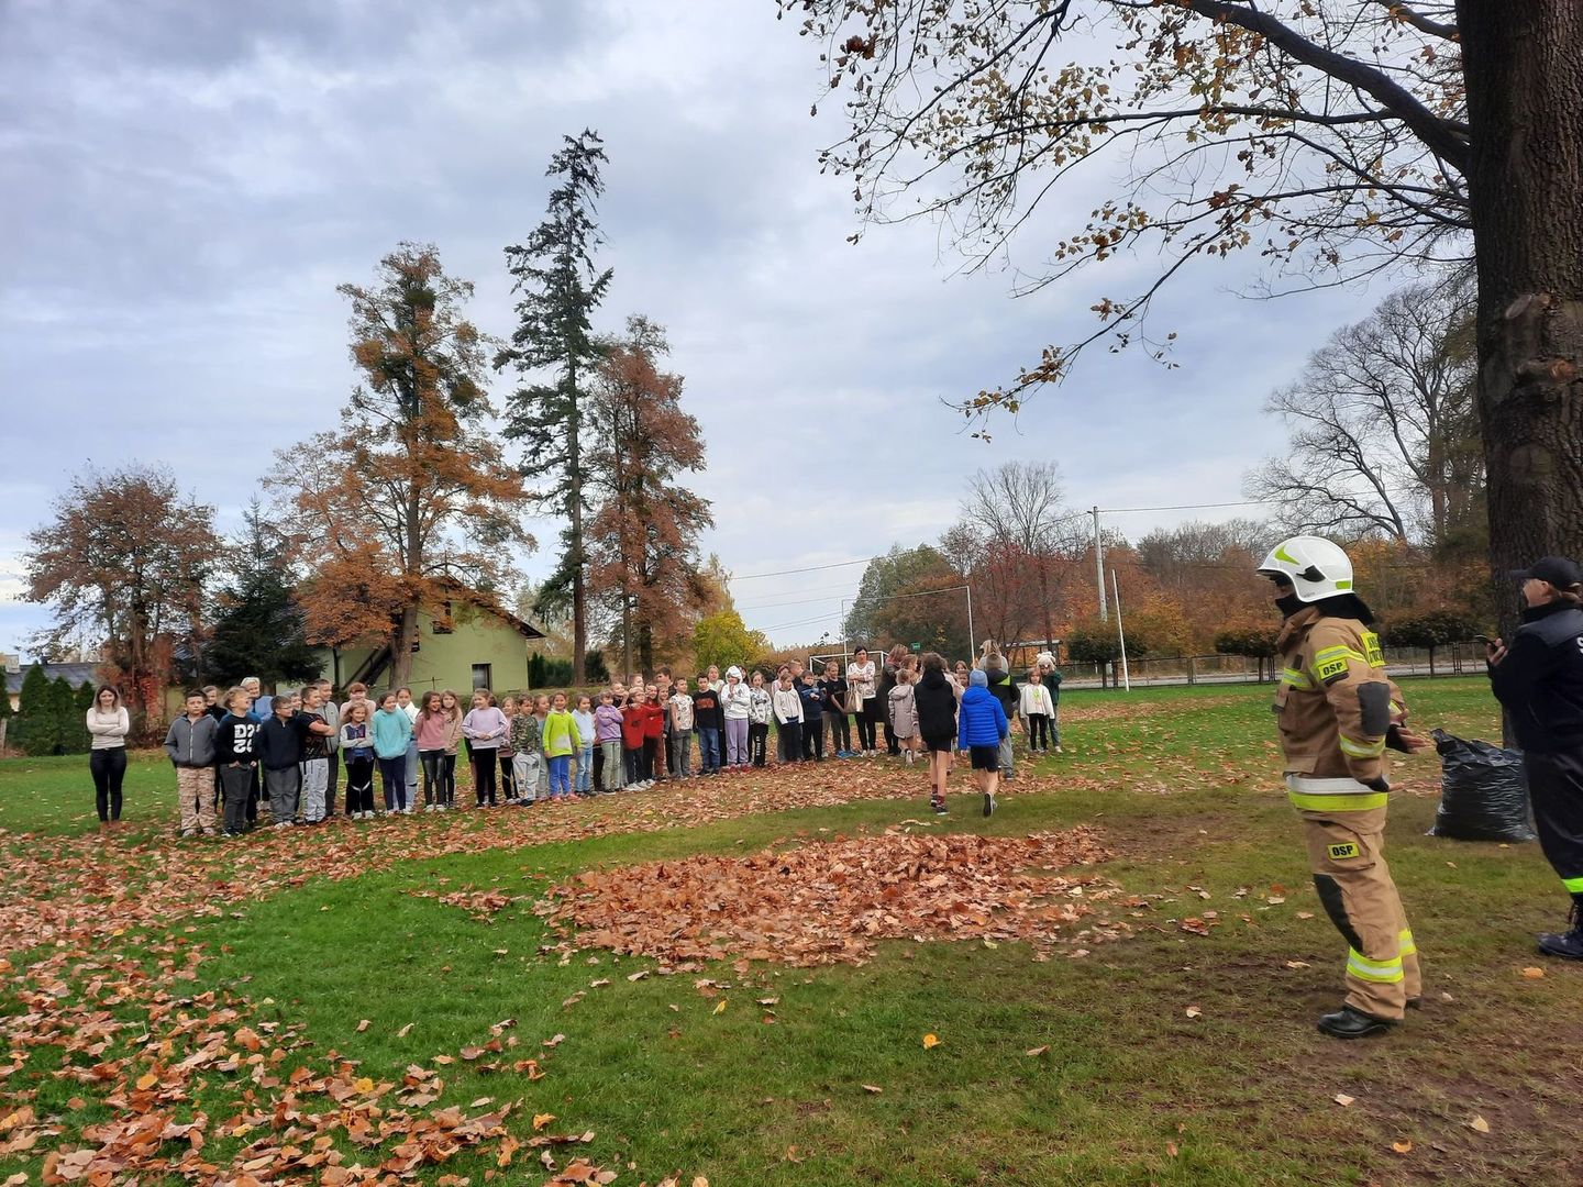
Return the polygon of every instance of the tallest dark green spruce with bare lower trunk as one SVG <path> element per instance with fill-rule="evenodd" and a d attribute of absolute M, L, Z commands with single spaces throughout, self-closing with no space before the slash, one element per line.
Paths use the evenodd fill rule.
<path fill-rule="evenodd" d="M 603 141 L 587 128 L 565 136 L 549 158 L 548 177 L 559 177 L 549 210 L 522 244 L 505 248 L 507 271 L 518 294 L 518 326 L 511 345 L 495 355 L 495 370 L 513 367 L 524 378 L 513 393 L 505 434 L 521 440 L 522 476 L 538 481 L 538 499 L 565 511 L 565 556 L 557 576 L 571 589 L 571 682 L 583 684 L 587 655 L 587 546 L 583 487 L 587 462 L 583 448 L 583 400 L 595 377 L 602 347 L 592 318 L 611 269 L 594 267 L 594 252 L 605 242 L 595 223 L 595 201 L 605 192 L 600 166 Z M 548 383 L 527 381 L 549 372 Z"/>

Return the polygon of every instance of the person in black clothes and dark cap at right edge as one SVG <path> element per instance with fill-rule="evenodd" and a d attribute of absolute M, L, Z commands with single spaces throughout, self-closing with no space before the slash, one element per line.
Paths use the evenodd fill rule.
<path fill-rule="evenodd" d="M 1539 937 L 1583 961 L 1583 568 L 1543 557 L 1523 578 L 1523 625 L 1488 646 L 1490 688 L 1523 749 L 1539 847 L 1572 896 L 1572 929 Z"/>

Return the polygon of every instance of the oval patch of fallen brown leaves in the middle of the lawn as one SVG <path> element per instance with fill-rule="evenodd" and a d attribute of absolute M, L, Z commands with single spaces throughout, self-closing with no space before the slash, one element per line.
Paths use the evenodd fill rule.
<path fill-rule="evenodd" d="M 731 956 L 863 964 L 888 939 L 1023 940 L 1048 953 L 1127 931 L 1095 910 L 1119 896 L 1114 883 L 1037 872 L 1108 856 L 1091 828 L 1027 837 L 890 831 L 587 872 L 551 889 L 538 913 L 575 932 L 567 950 L 609 948 L 671 965 Z"/>

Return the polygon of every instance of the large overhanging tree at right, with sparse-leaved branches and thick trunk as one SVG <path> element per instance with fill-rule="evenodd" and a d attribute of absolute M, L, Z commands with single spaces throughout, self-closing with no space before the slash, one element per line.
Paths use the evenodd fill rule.
<path fill-rule="evenodd" d="M 825 165 L 853 177 L 866 220 L 939 217 L 986 261 L 1045 206 L 1072 209 L 1089 176 L 1110 192 L 1038 245 L 1026 286 L 1162 261 L 1137 291 L 1095 298 L 1091 334 L 964 400 L 969 415 L 1015 410 L 1095 342 L 1164 358 L 1170 336 L 1143 318 L 1190 263 L 1252 250 L 1279 290 L 1460 260 L 1471 237 L 1491 570 L 1578 551 L 1583 5 L 779 5 L 850 95 Z"/>

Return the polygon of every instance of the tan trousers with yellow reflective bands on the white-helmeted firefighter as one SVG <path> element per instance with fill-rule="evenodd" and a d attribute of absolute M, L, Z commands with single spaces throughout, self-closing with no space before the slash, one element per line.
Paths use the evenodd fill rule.
<path fill-rule="evenodd" d="M 1346 1002 L 1396 1021 L 1423 986 L 1418 948 L 1385 864 L 1385 812 L 1298 809 L 1319 901 L 1347 942 Z"/>

